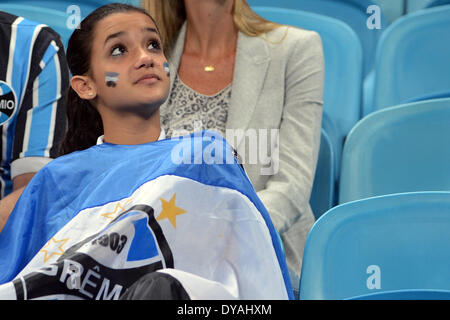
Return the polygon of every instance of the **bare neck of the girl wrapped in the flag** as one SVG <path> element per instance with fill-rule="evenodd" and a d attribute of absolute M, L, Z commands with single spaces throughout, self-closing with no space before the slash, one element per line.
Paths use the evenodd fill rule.
<path fill-rule="evenodd" d="M 157 141 L 161 133 L 159 110 L 144 119 L 135 114 L 102 115 L 104 142 L 113 144 L 144 144 Z"/>

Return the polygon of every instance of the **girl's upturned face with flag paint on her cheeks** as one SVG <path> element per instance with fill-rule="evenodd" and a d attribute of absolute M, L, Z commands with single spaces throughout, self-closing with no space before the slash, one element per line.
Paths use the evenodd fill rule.
<path fill-rule="evenodd" d="M 153 114 L 170 84 L 154 22 L 139 12 L 102 19 L 95 27 L 90 77 L 98 107 Z"/>

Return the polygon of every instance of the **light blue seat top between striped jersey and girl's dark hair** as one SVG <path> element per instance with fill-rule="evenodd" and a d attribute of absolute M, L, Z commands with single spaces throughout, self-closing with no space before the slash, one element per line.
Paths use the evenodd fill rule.
<path fill-rule="evenodd" d="M 36 1 L 34 1 L 34 4 L 36 4 Z M 0 3 L 0 10 L 48 25 L 61 36 L 64 47 L 67 48 L 67 43 L 72 35 L 73 29 L 69 29 L 66 25 L 68 15 L 65 12 L 40 6 L 37 7 L 31 4 L 23 5 L 3 2 Z"/>

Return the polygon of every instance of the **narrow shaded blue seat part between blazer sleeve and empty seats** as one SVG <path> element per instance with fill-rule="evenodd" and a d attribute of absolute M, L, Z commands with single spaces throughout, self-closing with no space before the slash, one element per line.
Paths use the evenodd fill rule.
<path fill-rule="evenodd" d="M 316 220 L 334 205 L 334 183 L 333 146 L 328 134 L 322 129 L 319 158 L 309 201 Z"/>

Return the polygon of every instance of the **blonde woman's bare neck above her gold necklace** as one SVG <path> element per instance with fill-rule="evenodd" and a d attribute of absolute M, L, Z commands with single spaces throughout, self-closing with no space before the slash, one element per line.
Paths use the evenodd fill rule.
<path fill-rule="evenodd" d="M 185 53 L 209 59 L 234 51 L 238 30 L 233 21 L 233 1 L 185 0 L 185 7 Z"/>

